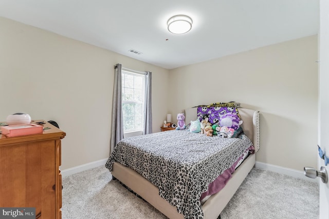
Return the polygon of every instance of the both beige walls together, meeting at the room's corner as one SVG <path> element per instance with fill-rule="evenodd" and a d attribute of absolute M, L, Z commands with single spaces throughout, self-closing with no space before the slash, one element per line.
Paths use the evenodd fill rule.
<path fill-rule="evenodd" d="M 237 101 L 261 111 L 259 162 L 316 166 L 317 36 L 169 71 L 9 19 L 0 27 L 0 121 L 57 121 L 62 169 L 108 157 L 116 63 L 152 71 L 153 132 L 168 112 Z"/>

